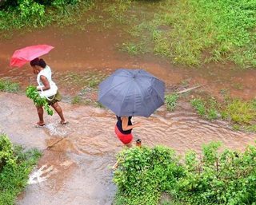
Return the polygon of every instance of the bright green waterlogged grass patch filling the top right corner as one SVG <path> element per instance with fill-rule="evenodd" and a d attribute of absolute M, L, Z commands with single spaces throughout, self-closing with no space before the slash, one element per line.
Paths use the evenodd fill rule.
<path fill-rule="evenodd" d="M 105 11 L 130 34 L 121 50 L 190 66 L 212 61 L 256 66 L 254 0 L 114 2 Z"/>

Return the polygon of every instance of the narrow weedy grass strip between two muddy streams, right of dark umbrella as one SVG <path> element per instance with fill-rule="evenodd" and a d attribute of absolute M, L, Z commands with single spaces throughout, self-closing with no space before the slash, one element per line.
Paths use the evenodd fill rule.
<path fill-rule="evenodd" d="M 206 92 L 166 95 L 167 111 L 173 112 L 178 101 L 189 102 L 198 116 L 206 120 L 226 120 L 234 130 L 256 132 L 256 99 L 244 101 L 224 96 L 217 99 Z"/>

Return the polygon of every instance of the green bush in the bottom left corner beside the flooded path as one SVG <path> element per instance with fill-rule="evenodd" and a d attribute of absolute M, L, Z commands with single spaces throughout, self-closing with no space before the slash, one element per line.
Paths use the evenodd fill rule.
<path fill-rule="evenodd" d="M 28 175 L 37 164 L 40 152 L 24 151 L 10 143 L 6 135 L 0 135 L 0 204 L 13 205 L 19 193 L 26 187 Z"/>

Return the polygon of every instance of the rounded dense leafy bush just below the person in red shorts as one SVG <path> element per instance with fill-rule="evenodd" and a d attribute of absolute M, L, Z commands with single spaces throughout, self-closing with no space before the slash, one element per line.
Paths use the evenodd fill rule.
<path fill-rule="evenodd" d="M 169 148 L 126 149 L 118 160 L 118 170 L 114 171 L 118 204 L 156 204 L 161 192 L 171 189 L 183 172 Z"/>

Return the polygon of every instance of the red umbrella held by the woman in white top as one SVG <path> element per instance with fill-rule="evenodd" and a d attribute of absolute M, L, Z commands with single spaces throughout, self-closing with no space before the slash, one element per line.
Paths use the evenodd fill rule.
<path fill-rule="evenodd" d="M 31 45 L 15 50 L 13 56 L 10 58 L 10 66 L 21 68 L 26 62 L 49 53 L 51 49 L 54 49 L 51 45 Z"/>

